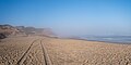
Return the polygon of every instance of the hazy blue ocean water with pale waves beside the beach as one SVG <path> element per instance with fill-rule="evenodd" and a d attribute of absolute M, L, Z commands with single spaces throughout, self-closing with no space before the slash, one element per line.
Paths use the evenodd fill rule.
<path fill-rule="evenodd" d="M 81 39 L 90 40 L 90 41 L 105 41 L 105 42 L 131 44 L 131 36 L 86 36 L 86 37 L 81 37 Z"/>

